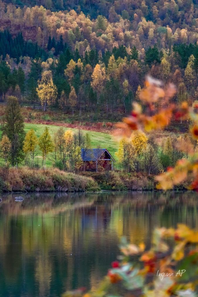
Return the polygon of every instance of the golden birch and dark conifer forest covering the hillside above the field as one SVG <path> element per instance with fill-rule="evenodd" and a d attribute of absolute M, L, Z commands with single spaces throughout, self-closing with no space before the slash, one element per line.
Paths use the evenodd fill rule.
<path fill-rule="evenodd" d="M 197 99 L 195 2 L 105 1 L 94 5 L 95 18 L 91 2 L 36 4 L 0 2 L 2 102 L 14 95 L 108 120 L 130 111 L 146 74 L 175 83 L 177 104 Z M 36 90 L 46 79 L 54 95 L 43 102 Z"/>

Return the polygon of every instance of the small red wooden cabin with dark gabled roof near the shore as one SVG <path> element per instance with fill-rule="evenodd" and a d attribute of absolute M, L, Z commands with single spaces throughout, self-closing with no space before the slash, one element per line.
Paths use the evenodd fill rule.
<path fill-rule="evenodd" d="M 107 149 L 81 149 L 84 171 L 113 170 L 115 160 Z"/>

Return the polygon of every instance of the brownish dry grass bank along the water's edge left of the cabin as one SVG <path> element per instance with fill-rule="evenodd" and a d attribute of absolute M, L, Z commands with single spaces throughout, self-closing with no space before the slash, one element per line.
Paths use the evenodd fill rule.
<path fill-rule="evenodd" d="M 0 168 L 0 178 L 2 189 L 6 192 L 81 192 L 99 189 L 92 178 L 57 168 Z"/>

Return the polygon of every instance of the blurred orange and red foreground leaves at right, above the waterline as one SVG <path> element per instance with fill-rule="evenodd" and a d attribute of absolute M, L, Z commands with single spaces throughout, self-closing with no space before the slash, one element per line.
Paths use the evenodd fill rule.
<path fill-rule="evenodd" d="M 191 59 L 192 60 L 192 59 Z M 123 123 L 117 125 L 118 129 L 115 135 L 131 136 L 133 133 L 139 133 L 137 130 L 145 130 L 146 132 L 153 129 L 164 128 L 170 123 L 170 120 L 190 119 L 193 121 L 193 126 L 190 129 L 192 138 L 198 140 L 198 104 L 194 102 L 192 107 L 189 107 L 187 102 L 182 102 L 179 107 L 171 103 L 171 98 L 175 94 L 175 86 L 168 84 L 162 86 L 159 80 L 147 77 L 145 87 L 140 91 L 139 97 L 142 104 L 145 105 L 145 113 L 142 113 L 142 107 L 137 102 L 133 103 L 131 116 L 124 118 Z M 156 105 L 157 104 L 157 105 Z M 133 146 L 135 147 L 134 143 Z M 141 145 L 139 145 L 141 148 Z M 175 168 L 168 168 L 167 172 L 156 177 L 159 181 L 158 189 L 172 189 L 176 184 L 185 181 L 191 177 L 194 181 L 189 189 L 198 191 L 198 154 L 194 152 L 193 144 L 190 138 L 178 138 L 178 143 L 175 145 L 178 150 L 183 151 L 189 156 L 188 159 L 179 160 Z M 170 138 L 167 139 L 163 153 L 172 155 L 172 143 Z M 137 153 L 139 150 L 136 149 Z"/>

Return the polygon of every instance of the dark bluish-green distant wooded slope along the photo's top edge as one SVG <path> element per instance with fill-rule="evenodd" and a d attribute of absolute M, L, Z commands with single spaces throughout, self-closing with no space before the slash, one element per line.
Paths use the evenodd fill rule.
<path fill-rule="evenodd" d="M 195 9 L 197 9 L 197 1 L 196 0 L 175 0 L 175 1 L 151 1 L 151 0 L 145 0 L 145 1 L 134 1 L 134 0 L 128 0 L 124 3 L 120 1 L 73 1 L 73 0 L 15 0 L 4 1 L 5 3 L 13 4 L 15 3 L 16 6 L 19 7 L 32 7 L 35 5 L 43 5 L 45 8 L 53 10 L 53 11 L 59 11 L 59 10 L 75 10 L 77 12 L 82 11 L 85 15 L 89 15 L 90 18 L 97 18 L 98 14 L 104 15 L 106 18 L 115 18 L 121 15 L 123 18 L 132 20 L 134 17 L 134 13 L 137 13 L 137 11 L 141 11 L 142 14 L 148 19 L 148 20 L 155 20 L 157 16 L 157 11 L 159 12 L 159 18 L 161 20 L 164 20 L 167 18 L 166 22 L 169 21 L 168 18 L 172 18 L 173 22 L 178 21 L 176 16 L 179 12 L 178 17 L 183 21 L 183 17 L 185 13 L 188 13 L 189 10 L 192 13 L 192 5 L 194 5 Z M 115 21 L 115 19 L 114 19 Z"/>

